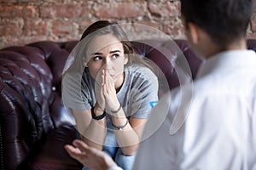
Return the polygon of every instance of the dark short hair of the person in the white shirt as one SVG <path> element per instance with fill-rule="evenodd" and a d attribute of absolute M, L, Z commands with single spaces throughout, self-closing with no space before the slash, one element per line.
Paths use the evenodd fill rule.
<path fill-rule="evenodd" d="M 246 37 L 253 0 L 181 0 L 185 27 L 192 22 L 219 46 Z"/>

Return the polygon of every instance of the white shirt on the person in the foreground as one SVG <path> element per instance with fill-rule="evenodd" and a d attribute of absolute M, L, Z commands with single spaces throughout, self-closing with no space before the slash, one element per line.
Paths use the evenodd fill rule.
<path fill-rule="evenodd" d="M 141 143 L 134 169 L 256 169 L 256 54 L 212 56 L 195 82 L 181 89 L 154 108 L 144 135 L 170 106 L 157 131 Z"/>

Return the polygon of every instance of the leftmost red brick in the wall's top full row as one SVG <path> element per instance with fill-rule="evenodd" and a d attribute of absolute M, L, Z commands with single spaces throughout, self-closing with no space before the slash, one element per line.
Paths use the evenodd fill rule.
<path fill-rule="evenodd" d="M 14 19 L 23 18 L 29 19 L 35 17 L 36 9 L 31 5 L 1 5 L 0 18 Z"/>

